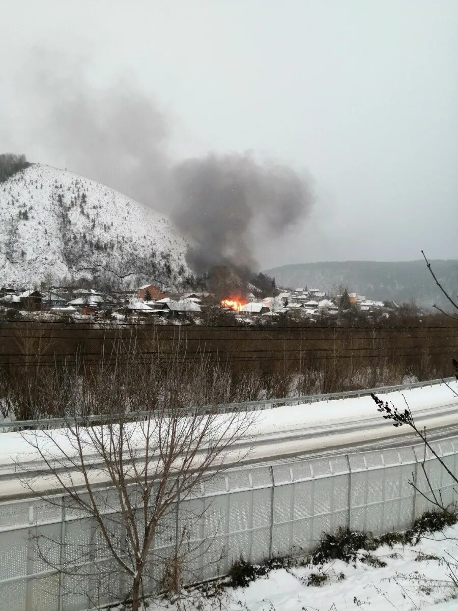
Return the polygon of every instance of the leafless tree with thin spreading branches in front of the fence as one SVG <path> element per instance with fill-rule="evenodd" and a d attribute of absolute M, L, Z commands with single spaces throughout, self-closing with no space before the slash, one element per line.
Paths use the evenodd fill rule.
<path fill-rule="evenodd" d="M 29 491 L 65 502 L 89 526 L 64 542 L 37 528 L 35 551 L 86 588 L 93 606 L 121 575 L 127 586 L 111 587 L 137 611 L 145 593 L 179 588 L 184 557 L 202 552 L 191 531 L 208 508 L 195 492 L 246 454 L 238 441 L 254 416 L 214 407 L 228 373 L 205 354 L 190 359 L 186 346 L 142 353 L 132 340 L 96 367 L 67 368 L 65 385 L 74 401 L 65 428 L 24 431 L 36 459 L 17 472 Z"/>

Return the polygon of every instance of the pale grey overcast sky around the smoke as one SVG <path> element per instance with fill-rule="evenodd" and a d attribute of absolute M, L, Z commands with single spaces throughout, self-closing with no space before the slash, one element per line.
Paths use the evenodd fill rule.
<path fill-rule="evenodd" d="M 262 267 L 412 260 L 422 248 L 458 258 L 457 0 L 2 0 L 0 10 L 0 152 L 89 174 L 71 142 L 56 144 L 43 99 L 57 114 L 64 96 L 46 79 L 58 76 L 65 100 L 68 82 L 135 83 L 167 117 L 168 156 L 249 151 L 313 181 L 308 218 L 257 245 Z"/>

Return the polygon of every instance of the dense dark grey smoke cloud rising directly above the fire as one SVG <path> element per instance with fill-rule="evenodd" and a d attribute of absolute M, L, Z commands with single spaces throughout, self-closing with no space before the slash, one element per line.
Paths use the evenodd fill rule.
<path fill-rule="evenodd" d="M 289 167 L 258 164 L 249 155 L 187 159 L 173 169 L 178 200 L 173 217 L 189 236 L 189 264 L 197 273 L 213 265 L 256 269 L 253 232 L 266 241 L 282 236 L 307 214 L 312 196 Z"/>

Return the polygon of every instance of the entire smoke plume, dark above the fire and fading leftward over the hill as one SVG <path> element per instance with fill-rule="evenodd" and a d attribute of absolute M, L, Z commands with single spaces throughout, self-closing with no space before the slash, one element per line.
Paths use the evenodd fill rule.
<path fill-rule="evenodd" d="M 22 94 L 28 106 L 16 112 L 14 124 L 24 126 L 32 146 L 15 145 L 12 132 L 8 148 L 25 151 L 31 161 L 53 159 L 170 214 L 189 238 L 195 272 L 214 265 L 255 269 L 255 244 L 261 240 L 267 248 L 308 213 L 310 187 L 289 167 L 236 153 L 172 162 L 170 119 L 151 96 L 132 79 L 96 89 L 89 66 L 64 60 L 59 70 L 53 57 L 52 74 L 45 70 L 47 52 L 27 64 Z"/>

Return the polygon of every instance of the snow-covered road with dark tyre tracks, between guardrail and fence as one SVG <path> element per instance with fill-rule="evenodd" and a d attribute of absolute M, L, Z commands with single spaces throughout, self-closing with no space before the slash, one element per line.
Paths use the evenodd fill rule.
<path fill-rule="evenodd" d="M 418 426 L 445 438 L 458 434 L 458 383 L 379 395 L 404 409 L 409 404 Z M 53 435 L 62 434 L 59 430 Z M 33 466 L 37 457 L 20 433 L 0 437 L 0 498 L 23 495 L 15 461 Z M 256 412 L 249 436 L 240 439 L 227 456 L 229 463 L 272 463 L 317 453 L 330 455 L 418 442 L 407 426 L 394 428 L 377 412 L 371 397 L 319 401 Z M 240 463 L 239 463 L 240 464 Z"/>

